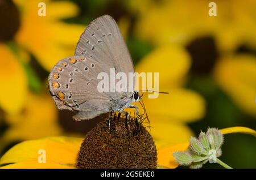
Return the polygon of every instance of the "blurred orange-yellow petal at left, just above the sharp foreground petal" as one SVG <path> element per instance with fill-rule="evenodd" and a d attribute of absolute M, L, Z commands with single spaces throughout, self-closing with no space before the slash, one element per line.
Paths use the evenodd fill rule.
<path fill-rule="evenodd" d="M 22 112 L 7 115 L 6 120 L 11 126 L 2 136 L 2 145 L 16 140 L 56 136 L 62 132 L 57 121 L 57 109 L 48 94 L 29 93 Z"/>

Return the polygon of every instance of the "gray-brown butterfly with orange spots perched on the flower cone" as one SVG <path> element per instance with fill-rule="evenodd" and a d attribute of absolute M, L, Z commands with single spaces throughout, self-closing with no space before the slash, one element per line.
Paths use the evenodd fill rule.
<path fill-rule="evenodd" d="M 58 109 L 76 111 L 77 121 L 92 119 L 108 112 L 123 112 L 139 101 L 138 91 L 99 92 L 100 72 L 134 72 L 133 61 L 115 20 L 104 15 L 93 20 L 82 33 L 75 55 L 61 59 L 51 70 L 49 92 Z M 135 79 L 135 78 L 134 78 Z M 135 80 L 132 85 L 135 88 Z"/>

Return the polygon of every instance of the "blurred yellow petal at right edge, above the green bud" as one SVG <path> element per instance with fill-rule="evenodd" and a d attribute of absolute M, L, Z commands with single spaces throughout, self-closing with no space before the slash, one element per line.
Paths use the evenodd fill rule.
<path fill-rule="evenodd" d="M 249 54 L 222 57 L 214 79 L 240 108 L 256 117 L 256 57 Z"/>

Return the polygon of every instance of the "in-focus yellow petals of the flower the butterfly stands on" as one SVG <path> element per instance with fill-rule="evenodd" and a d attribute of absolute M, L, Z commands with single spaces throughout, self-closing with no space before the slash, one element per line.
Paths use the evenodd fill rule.
<path fill-rule="evenodd" d="M 247 127 L 230 127 L 220 130 L 222 134 L 245 133 L 256 136 L 256 131 Z M 16 144 L 0 158 L 1 168 L 75 168 L 82 138 L 65 136 L 27 140 Z M 170 145 L 158 149 L 160 168 L 176 168 L 177 162 L 172 153 L 185 151 L 189 143 Z M 46 152 L 46 163 L 39 163 L 39 150 Z"/>

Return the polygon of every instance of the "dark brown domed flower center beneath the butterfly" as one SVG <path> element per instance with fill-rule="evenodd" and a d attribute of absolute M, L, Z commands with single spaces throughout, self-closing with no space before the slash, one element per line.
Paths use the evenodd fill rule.
<path fill-rule="evenodd" d="M 81 144 L 77 168 L 156 168 L 157 153 L 152 136 L 124 118 L 94 127 Z"/>

